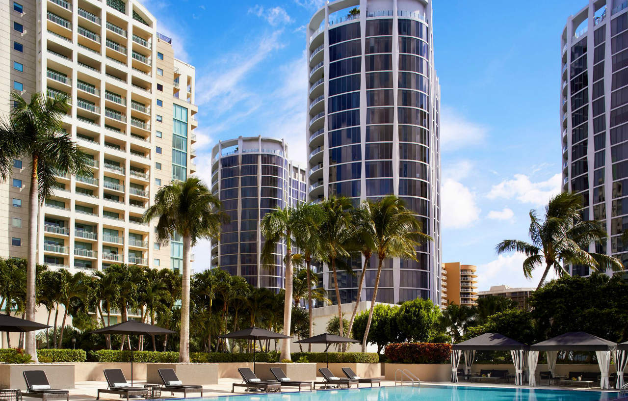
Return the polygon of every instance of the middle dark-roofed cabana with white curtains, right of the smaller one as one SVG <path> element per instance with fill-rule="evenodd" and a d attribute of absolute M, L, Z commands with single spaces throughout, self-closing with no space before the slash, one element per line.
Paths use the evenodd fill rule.
<path fill-rule="evenodd" d="M 529 385 L 535 386 L 534 371 L 539 360 L 539 352 L 545 351 L 548 358 L 548 370 L 554 375 L 558 351 L 595 351 L 597 364 L 600 366 L 600 388 L 609 388 L 610 354 L 617 350 L 612 341 L 593 336 L 583 331 L 572 331 L 550 338 L 530 346 L 528 365 L 530 367 Z"/>

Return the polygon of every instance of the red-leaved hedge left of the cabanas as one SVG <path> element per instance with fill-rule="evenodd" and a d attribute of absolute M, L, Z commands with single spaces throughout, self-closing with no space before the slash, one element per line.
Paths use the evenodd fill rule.
<path fill-rule="evenodd" d="M 450 360 L 452 344 L 398 343 L 389 344 L 384 354 L 393 363 L 445 363 Z"/>

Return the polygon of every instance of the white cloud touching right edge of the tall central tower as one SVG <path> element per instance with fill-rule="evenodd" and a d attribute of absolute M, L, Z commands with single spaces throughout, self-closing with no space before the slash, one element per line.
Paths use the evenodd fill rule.
<path fill-rule="evenodd" d="M 475 193 L 465 185 L 445 179 L 441 188 L 441 219 L 443 228 L 466 228 L 480 216 Z"/>

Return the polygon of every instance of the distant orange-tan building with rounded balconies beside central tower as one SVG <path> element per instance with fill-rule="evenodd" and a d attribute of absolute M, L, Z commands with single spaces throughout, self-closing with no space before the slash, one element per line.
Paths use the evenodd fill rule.
<path fill-rule="evenodd" d="M 477 299 L 477 275 L 473 265 L 443 263 L 441 272 L 441 306 L 474 305 Z"/>

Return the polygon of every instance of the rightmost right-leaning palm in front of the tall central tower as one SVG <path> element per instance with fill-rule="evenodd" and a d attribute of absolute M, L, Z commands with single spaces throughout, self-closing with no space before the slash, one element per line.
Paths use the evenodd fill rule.
<path fill-rule="evenodd" d="M 373 319 L 379 277 L 382 273 L 382 263 L 386 258 L 408 258 L 416 260 L 416 247 L 431 237 L 421 232 L 421 223 L 414 217 L 412 211 L 406 209 L 403 201 L 394 195 L 386 196 L 378 202 L 369 202 L 371 220 L 375 228 L 375 244 L 377 249 L 377 275 L 371 299 L 369 318 L 366 321 L 362 352 L 366 350 L 369 329 Z"/>

